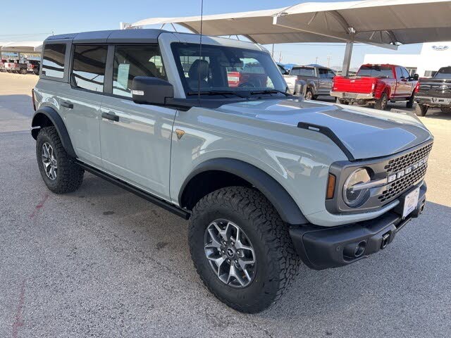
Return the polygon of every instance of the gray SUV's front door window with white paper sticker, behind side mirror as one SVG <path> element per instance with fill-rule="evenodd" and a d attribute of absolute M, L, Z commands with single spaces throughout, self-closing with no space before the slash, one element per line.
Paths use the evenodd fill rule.
<path fill-rule="evenodd" d="M 131 97 L 132 81 L 135 76 L 166 79 L 158 46 L 116 46 L 113 94 Z"/>

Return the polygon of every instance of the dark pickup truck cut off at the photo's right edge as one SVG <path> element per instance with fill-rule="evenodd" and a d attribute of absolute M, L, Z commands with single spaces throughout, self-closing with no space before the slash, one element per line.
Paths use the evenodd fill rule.
<path fill-rule="evenodd" d="M 429 108 L 451 113 L 451 66 L 440 68 L 433 78 L 421 78 L 415 101 L 416 115 L 426 115 Z"/>

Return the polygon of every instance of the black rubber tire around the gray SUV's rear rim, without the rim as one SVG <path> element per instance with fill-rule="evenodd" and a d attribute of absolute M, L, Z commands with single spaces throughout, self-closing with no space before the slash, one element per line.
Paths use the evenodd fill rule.
<path fill-rule="evenodd" d="M 58 163 L 55 180 L 47 177 L 44 163 L 42 163 L 42 146 L 46 142 L 53 148 Z M 85 170 L 75 163 L 75 158 L 70 157 L 66 153 L 55 127 L 44 127 L 39 130 L 36 139 L 36 157 L 42 180 L 44 180 L 44 183 L 51 192 L 55 194 L 74 192 L 82 184 Z"/>

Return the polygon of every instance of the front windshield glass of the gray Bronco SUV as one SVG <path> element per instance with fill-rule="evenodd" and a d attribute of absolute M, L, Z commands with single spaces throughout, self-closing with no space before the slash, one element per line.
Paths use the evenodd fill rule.
<path fill-rule="evenodd" d="M 226 46 L 173 43 L 172 50 L 187 95 L 198 92 L 285 92 L 286 83 L 264 51 Z"/>

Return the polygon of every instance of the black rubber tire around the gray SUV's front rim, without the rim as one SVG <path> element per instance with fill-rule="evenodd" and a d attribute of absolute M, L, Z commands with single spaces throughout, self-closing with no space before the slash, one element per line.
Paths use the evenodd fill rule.
<path fill-rule="evenodd" d="M 230 220 L 245 232 L 255 251 L 254 280 L 242 289 L 230 287 L 214 273 L 204 253 L 204 232 L 214 220 Z M 194 268 L 220 301 L 244 313 L 257 313 L 282 296 L 297 275 L 299 257 L 272 204 L 247 187 L 218 189 L 202 198 L 192 211 L 189 245 Z"/>

